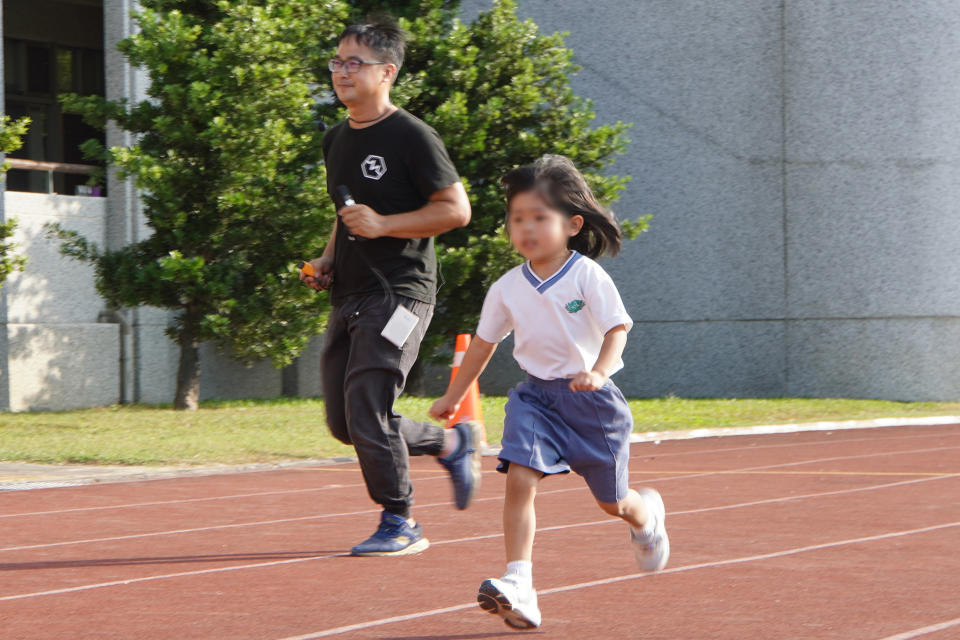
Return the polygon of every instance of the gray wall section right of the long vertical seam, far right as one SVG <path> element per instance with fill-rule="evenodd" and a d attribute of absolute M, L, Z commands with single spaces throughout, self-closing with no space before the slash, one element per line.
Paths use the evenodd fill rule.
<path fill-rule="evenodd" d="M 787 392 L 960 397 L 960 5 L 792 0 Z"/>

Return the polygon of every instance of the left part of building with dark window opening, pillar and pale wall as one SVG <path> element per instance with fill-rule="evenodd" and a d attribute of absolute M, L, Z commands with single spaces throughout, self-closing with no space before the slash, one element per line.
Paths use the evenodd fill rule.
<path fill-rule="evenodd" d="M 135 27 L 127 0 L 3 0 L 4 112 L 33 120 L 24 147 L 12 154 L 0 219 L 18 222 L 15 242 L 27 269 L 0 290 L 0 410 L 69 409 L 117 402 L 170 402 L 179 350 L 164 334 L 160 309 L 114 311 L 94 287 L 88 265 L 59 255 L 43 227 L 57 222 L 106 248 L 149 232 L 133 186 L 107 175 L 100 195 L 77 195 L 88 176 L 62 173 L 83 162 L 77 144 L 98 134 L 61 113 L 56 94 L 76 91 L 141 100 L 147 79 L 131 68 L 116 43 Z M 116 128 L 108 145 L 126 145 Z M 47 172 L 17 169 L 18 159 L 57 163 Z M 79 187 L 79 189 L 78 189 Z M 285 390 L 320 394 L 313 371 L 319 341 L 283 372 L 230 360 L 212 345 L 201 351 L 201 396 L 279 396 Z M 299 381 L 299 383 L 297 383 Z"/>

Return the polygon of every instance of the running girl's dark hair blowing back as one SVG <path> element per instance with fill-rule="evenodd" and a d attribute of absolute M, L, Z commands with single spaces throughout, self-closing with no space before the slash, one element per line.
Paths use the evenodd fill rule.
<path fill-rule="evenodd" d="M 553 209 L 567 216 L 581 216 L 580 233 L 567 241 L 567 247 L 588 258 L 620 253 L 623 235 L 611 211 L 593 195 L 587 181 L 569 158 L 547 154 L 532 165 L 518 167 L 500 180 L 507 192 L 507 209 L 518 193 L 536 191 Z"/>

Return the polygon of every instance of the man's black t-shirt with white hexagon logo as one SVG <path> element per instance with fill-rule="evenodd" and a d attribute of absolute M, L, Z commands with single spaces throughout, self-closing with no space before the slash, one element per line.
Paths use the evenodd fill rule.
<path fill-rule="evenodd" d="M 364 129 L 352 129 L 347 122 L 331 128 L 323 138 L 323 160 L 327 192 L 338 209 L 343 202 L 337 186 L 345 185 L 357 204 L 381 215 L 420 209 L 431 195 L 460 179 L 437 132 L 403 109 Z M 370 265 L 386 277 L 394 293 L 431 304 L 436 300 L 432 237 L 354 241 L 347 236 L 345 225 L 339 224 L 333 304 L 383 290 Z"/>

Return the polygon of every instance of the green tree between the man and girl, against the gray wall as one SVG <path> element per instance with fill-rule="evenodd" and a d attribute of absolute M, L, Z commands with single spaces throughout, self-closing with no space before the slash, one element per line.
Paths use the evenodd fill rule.
<path fill-rule="evenodd" d="M 444 284 L 424 339 L 424 355 L 436 357 L 457 333 L 473 330 L 487 289 L 520 261 L 503 233 L 500 177 L 544 153 L 563 154 L 609 205 L 629 180 L 605 171 L 625 150 L 628 125 L 592 126 L 592 103 L 570 86 L 580 68 L 564 35 L 519 20 L 515 0 L 495 0 L 469 24 L 457 18 L 459 1 L 350 4 L 354 20 L 392 11 L 411 34 L 394 102 L 437 130 L 473 207 L 467 227 L 437 240 Z M 621 226 L 634 238 L 647 224 L 644 217 Z"/>

